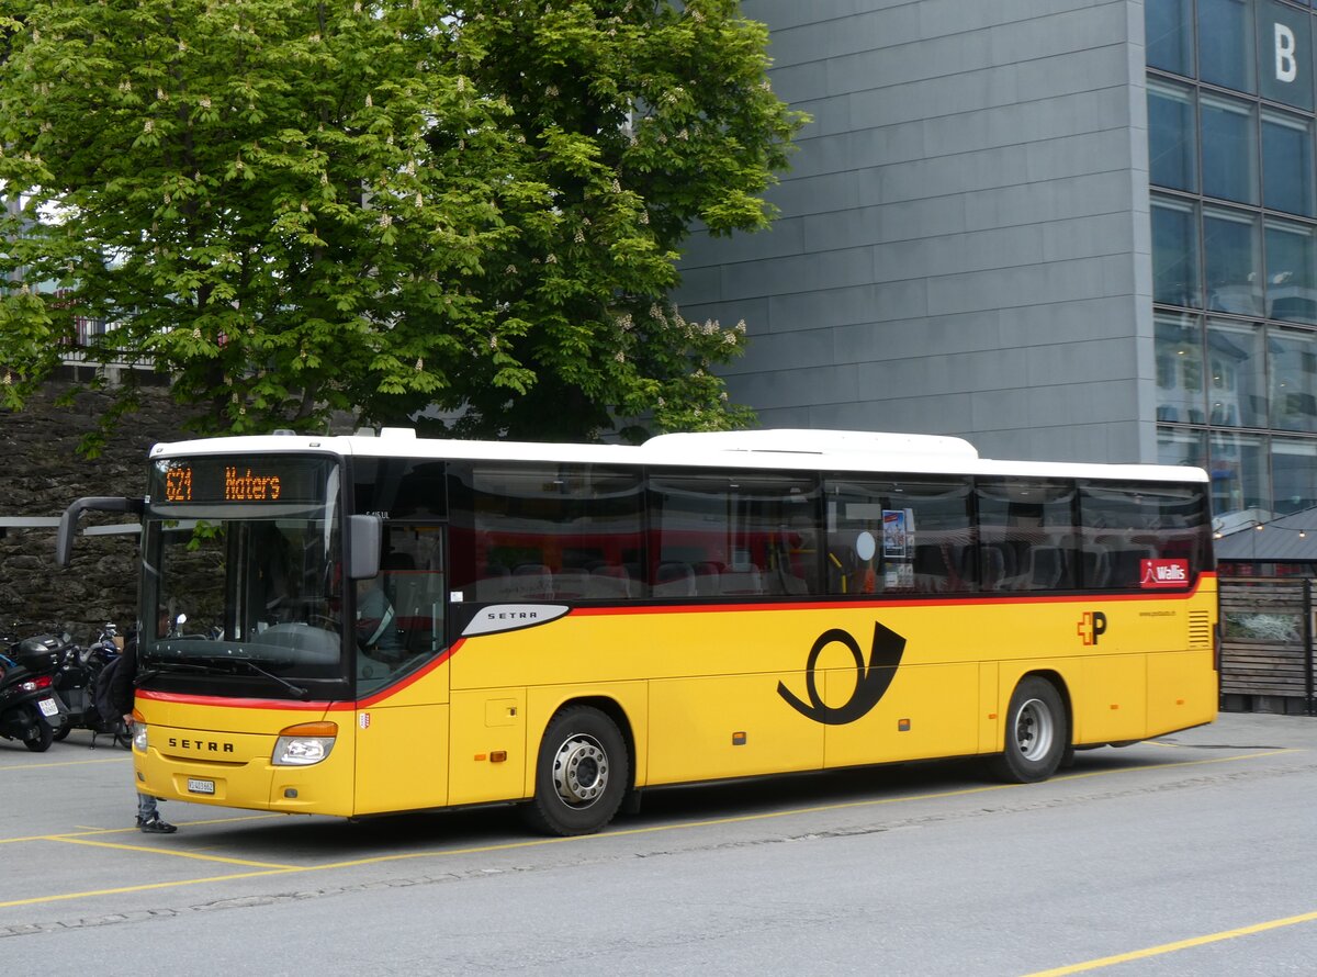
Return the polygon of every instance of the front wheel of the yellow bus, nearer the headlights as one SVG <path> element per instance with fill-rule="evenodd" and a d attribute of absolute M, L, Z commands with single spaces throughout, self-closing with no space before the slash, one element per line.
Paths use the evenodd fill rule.
<path fill-rule="evenodd" d="M 630 774 L 616 723 L 590 706 L 558 710 L 540 741 L 525 820 L 547 835 L 594 833 L 618 812 Z"/>

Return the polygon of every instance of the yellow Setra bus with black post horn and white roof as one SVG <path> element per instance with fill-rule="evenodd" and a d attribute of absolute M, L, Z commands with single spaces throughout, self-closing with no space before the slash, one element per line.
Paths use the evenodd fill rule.
<path fill-rule="evenodd" d="M 1008 781 L 1216 716 L 1197 469 L 867 432 L 161 444 L 133 758 L 348 818 L 940 757 Z"/>

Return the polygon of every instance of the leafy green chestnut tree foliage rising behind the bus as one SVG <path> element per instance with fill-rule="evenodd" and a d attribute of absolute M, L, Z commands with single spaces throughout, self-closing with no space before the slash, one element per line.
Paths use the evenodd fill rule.
<path fill-rule="evenodd" d="M 9 0 L 0 398 L 79 342 L 211 432 L 727 427 L 735 330 L 666 295 L 766 226 L 802 119 L 731 0 Z M 630 429 L 628 429 L 630 431 Z M 636 432 L 632 432 L 636 433 Z"/>

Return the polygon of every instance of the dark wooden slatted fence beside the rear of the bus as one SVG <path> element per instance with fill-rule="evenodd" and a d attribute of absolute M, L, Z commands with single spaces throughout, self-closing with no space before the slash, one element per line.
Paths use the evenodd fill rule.
<path fill-rule="evenodd" d="M 1223 710 L 1317 715 L 1312 581 L 1222 579 L 1221 636 Z"/>

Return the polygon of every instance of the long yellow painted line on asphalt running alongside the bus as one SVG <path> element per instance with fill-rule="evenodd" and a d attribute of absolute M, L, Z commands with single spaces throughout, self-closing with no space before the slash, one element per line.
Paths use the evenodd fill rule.
<path fill-rule="evenodd" d="M 1109 776 L 1113 776 L 1113 774 L 1117 774 L 1117 773 L 1130 773 L 1130 772 L 1141 772 L 1141 770 L 1167 770 L 1167 769 L 1173 769 L 1173 768 L 1177 768 L 1177 766 L 1201 766 L 1201 765 L 1206 765 L 1206 764 L 1229 764 L 1229 762 L 1233 762 L 1233 761 L 1237 761 L 1237 760 L 1260 760 L 1260 758 L 1268 757 L 1268 756 L 1277 756 L 1277 754 L 1283 754 L 1283 753 L 1301 753 L 1301 752 L 1304 752 L 1304 751 L 1303 749 L 1297 749 L 1297 748 L 1293 748 L 1293 749 L 1275 749 L 1275 751 L 1268 751 L 1266 753 L 1246 753 L 1246 754 L 1239 754 L 1239 756 L 1233 756 L 1233 757 L 1212 757 L 1209 760 L 1185 760 L 1185 761 L 1179 761 L 1179 762 L 1173 762 L 1173 764 L 1152 764 L 1151 766 L 1122 766 L 1122 768 L 1115 768 L 1115 769 L 1112 769 L 1112 770 L 1093 770 L 1090 773 L 1067 774 L 1067 776 L 1063 776 L 1063 777 L 1054 777 L 1052 779 L 1054 781 L 1075 781 L 1075 779 L 1085 779 L 1085 778 L 1089 778 L 1089 777 L 1109 777 Z M 655 824 L 655 826 L 651 826 L 651 827 L 647 827 L 647 828 L 610 830 L 607 833 L 601 833 L 601 835 L 577 835 L 577 836 L 572 836 L 572 837 L 539 837 L 539 839 L 528 839 L 528 840 L 524 840 L 524 841 L 504 841 L 504 843 L 500 843 L 500 844 L 491 844 L 491 845 L 475 845 L 475 847 L 471 847 L 471 848 L 443 848 L 443 849 L 437 849 L 437 851 L 432 849 L 432 851 L 425 851 L 425 852 L 403 852 L 403 853 L 399 853 L 399 855 L 377 855 L 377 856 L 370 856 L 367 858 L 352 858 L 352 860 L 348 860 L 348 861 L 331 861 L 331 862 L 323 862 L 320 865 L 295 865 L 295 866 L 287 866 L 287 868 L 271 868 L 271 869 L 267 869 L 267 870 L 263 870 L 263 872 L 242 872 L 242 873 L 237 873 L 237 874 L 232 874 L 232 876 L 209 876 L 209 877 L 205 877 L 205 878 L 182 878 L 182 880 L 175 880 L 173 882 L 146 882 L 144 885 L 124 886 L 124 887 L 119 887 L 119 889 L 92 889 L 92 890 L 88 890 L 88 891 L 62 893 L 62 894 L 58 894 L 58 895 L 36 895 L 36 897 L 32 897 L 32 898 L 28 898 L 28 899 L 12 899 L 9 902 L 0 902 L 0 909 L 12 909 L 14 906 L 36 906 L 36 905 L 46 903 L 46 902 L 65 902 L 65 901 L 68 901 L 68 899 L 95 898 L 97 895 L 117 895 L 117 894 L 122 894 L 122 893 L 150 891 L 153 889 L 176 889 L 176 887 L 184 886 L 184 885 L 204 885 L 207 882 L 225 882 L 225 881 L 233 881 L 233 880 L 240 880 L 240 878 L 255 878 L 258 876 L 281 876 L 281 874 L 291 874 L 291 873 L 298 873 L 298 872 L 324 872 L 327 869 L 358 868 L 361 865 L 382 865 L 382 864 L 390 862 L 390 861 L 407 861 L 407 860 L 412 860 L 412 858 L 439 858 L 439 857 L 457 857 L 457 856 L 462 856 L 462 855 L 487 855 L 490 852 L 510 852 L 510 851 L 515 851 L 515 849 L 519 849 L 519 848 L 540 848 L 540 847 L 544 847 L 544 845 L 565 844 L 565 843 L 582 843 L 582 844 L 587 844 L 587 843 L 591 843 L 591 841 L 602 841 L 602 840 L 610 839 L 610 837 L 626 837 L 626 836 L 631 836 L 631 835 L 653 835 L 653 833 L 660 833 L 660 832 L 664 832 L 664 831 L 682 831 L 682 830 L 689 830 L 689 828 L 707 828 L 707 827 L 716 827 L 719 824 L 743 824 L 743 823 L 757 822 L 757 820 L 769 820 L 769 819 L 774 819 L 774 818 L 789 818 L 789 816 L 798 815 L 798 814 L 819 814 L 819 812 L 824 812 L 824 811 L 843 811 L 843 810 L 855 808 L 855 807 L 878 807 L 881 805 L 896 805 L 896 803 L 905 803 L 905 802 L 909 802 L 909 801 L 938 801 L 938 799 L 943 799 L 943 798 L 968 797 L 971 794 L 985 794 L 985 793 L 996 791 L 996 790 L 1018 790 L 1019 787 L 1025 787 L 1025 786 L 1033 786 L 1033 785 L 1025 785 L 1025 783 L 993 783 L 993 785 L 986 785 L 986 786 L 982 786 L 982 787 L 965 787 L 963 790 L 947 790 L 947 791 L 940 791 L 940 793 L 935 793 L 935 794 L 913 794 L 913 795 L 909 795 L 909 797 L 880 798 L 880 799 L 876 799 L 876 801 L 844 801 L 842 803 L 835 803 L 835 805 L 814 805 L 811 807 L 793 807 L 793 808 L 786 810 L 786 811 L 765 811 L 765 812 L 760 812 L 760 814 L 734 815 L 734 816 L 730 816 L 730 818 L 712 818 L 712 819 L 706 819 L 706 820 L 682 822 L 682 823 L 678 823 L 678 824 Z M 257 815 L 257 816 L 262 816 L 263 818 L 263 816 L 282 816 L 282 815 Z M 191 823 L 203 823 L 203 822 L 191 822 Z M 186 828 L 187 824 L 184 824 L 183 827 Z M 11 840 L 21 840 L 21 839 L 11 839 Z M 70 835 L 41 835 L 41 836 L 37 836 L 37 837 L 30 839 L 30 840 L 61 841 L 61 840 L 72 840 L 72 837 Z M 124 845 L 124 847 L 126 848 L 129 845 Z M 162 849 L 159 849 L 159 848 L 149 848 L 146 851 L 159 852 Z M 199 857 L 207 857 L 207 856 L 199 856 Z M 238 862 L 238 864 L 242 864 L 242 862 Z M 250 862 L 250 864 L 259 865 L 261 862 Z"/>

